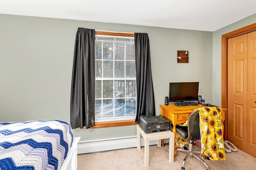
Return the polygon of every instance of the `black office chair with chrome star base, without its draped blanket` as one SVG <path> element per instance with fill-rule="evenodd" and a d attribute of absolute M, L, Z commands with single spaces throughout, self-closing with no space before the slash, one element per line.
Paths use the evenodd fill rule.
<path fill-rule="evenodd" d="M 172 130 L 173 125 L 171 125 L 171 130 Z M 192 146 L 193 146 L 193 141 L 195 140 L 199 140 L 201 139 L 200 136 L 200 122 L 199 122 L 199 113 L 198 111 L 193 111 L 189 118 L 188 118 L 188 126 L 180 126 L 180 125 L 176 125 L 176 132 L 182 136 L 186 141 L 189 141 L 188 144 L 188 150 L 184 150 L 184 149 L 179 149 L 176 148 L 176 150 L 181 150 L 184 152 L 188 152 L 188 154 L 186 155 L 186 157 L 184 158 L 184 160 L 182 161 L 182 168 L 181 170 L 185 170 L 184 165 L 186 163 L 186 160 L 188 158 L 188 156 L 193 155 L 195 158 L 197 158 L 198 160 L 200 160 L 206 167 L 208 170 L 209 166 L 206 164 L 206 162 L 204 162 L 204 160 L 202 158 L 200 158 L 199 156 L 197 156 L 195 153 L 201 153 L 201 151 L 192 151 Z"/>

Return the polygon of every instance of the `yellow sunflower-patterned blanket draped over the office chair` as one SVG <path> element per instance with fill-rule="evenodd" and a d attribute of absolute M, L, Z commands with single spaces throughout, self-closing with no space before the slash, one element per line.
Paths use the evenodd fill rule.
<path fill-rule="evenodd" d="M 222 109 L 201 107 L 195 109 L 200 116 L 201 156 L 208 160 L 226 160 L 222 133 Z"/>

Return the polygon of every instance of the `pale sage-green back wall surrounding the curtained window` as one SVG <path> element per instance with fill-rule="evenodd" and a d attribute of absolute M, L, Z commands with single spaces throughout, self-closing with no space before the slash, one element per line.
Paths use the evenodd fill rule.
<path fill-rule="evenodd" d="M 0 122 L 70 122 L 78 27 L 148 33 L 157 115 L 168 96 L 169 82 L 199 81 L 199 95 L 213 103 L 213 74 L 221 78 L 212 68 L 213 32 L 0 14 Z M 177 63 L 177 50 L 182 49 L 189 51 L 189 63 Z M 219 59 L 214 62 L 221 65 Z M 73 132 L 85 141 L 136 135 L 136 127 L 78 128 Z"/>

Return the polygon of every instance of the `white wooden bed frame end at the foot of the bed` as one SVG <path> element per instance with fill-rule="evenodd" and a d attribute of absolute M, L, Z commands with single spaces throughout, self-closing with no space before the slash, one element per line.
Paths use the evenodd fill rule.
<path fill-rule="evenodd" d="M 72 147 L 68 151 L 67 157 L 64 160 L 60 170 L 76 170 L 77 169 L 77 143 L 80 137 L 75 137 Z"/>

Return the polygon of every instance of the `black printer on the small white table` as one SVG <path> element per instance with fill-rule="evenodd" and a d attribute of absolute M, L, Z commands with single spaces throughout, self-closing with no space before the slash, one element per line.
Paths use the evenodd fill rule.
<path fill-rule="evenodd" d="M 142 115 L 139 126 L 145 133 L 170 131 L 170 120 L 162 115 Z"/>

